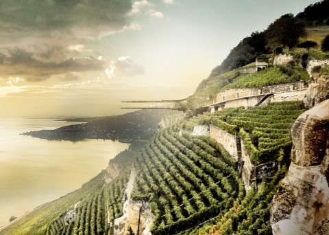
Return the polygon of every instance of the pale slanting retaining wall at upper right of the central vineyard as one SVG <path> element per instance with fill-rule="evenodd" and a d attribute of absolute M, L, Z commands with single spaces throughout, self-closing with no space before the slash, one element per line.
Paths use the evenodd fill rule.
<path fill-rule="evenodd" d="M 234 159 L 238 159 L 238 153 L 236 152 L 236 139 L 234 135 L 210 124 L 210 137 L 223 145 L 226 151 L 228 151 Z"/>

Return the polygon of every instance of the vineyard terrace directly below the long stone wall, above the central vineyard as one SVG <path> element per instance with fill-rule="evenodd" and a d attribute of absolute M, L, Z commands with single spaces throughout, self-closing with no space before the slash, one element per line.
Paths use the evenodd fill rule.
<path fill-rule="evenodd" d="M 280 149 L 290 155 L 290 127 L 305 110 L 302 101 L 273 102 L 249 109 L 223 109 L 193 117 L 182 124 L 182 128 L 191 130 L 196 124 L 213 124 L 233 135 L 238 134 L 252 161 L 261 164 L 273 159 Z"/>

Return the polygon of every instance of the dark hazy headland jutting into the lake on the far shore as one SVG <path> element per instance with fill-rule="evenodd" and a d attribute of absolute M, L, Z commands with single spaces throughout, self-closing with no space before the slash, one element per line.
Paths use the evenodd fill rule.
<path fill-rule="evenodd" d="M 109 117 L 74 118 L 66 121 L 87 123 L 63 126 L 56 130 L 29 131 L 23 135 L 49 140 L 112 139 L 130 143 L 153 134 L 161 117 L 169 113 L 173 111 L 141 110 Z"/>

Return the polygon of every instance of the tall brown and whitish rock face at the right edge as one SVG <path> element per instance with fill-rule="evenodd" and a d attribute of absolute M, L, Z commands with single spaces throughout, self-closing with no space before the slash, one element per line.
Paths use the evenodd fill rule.
<path fill-rule="evenodd" d="M 291 166 L 271 203 L 273 234 L 329 234 L 329 100 L 291 131 Z"/>

